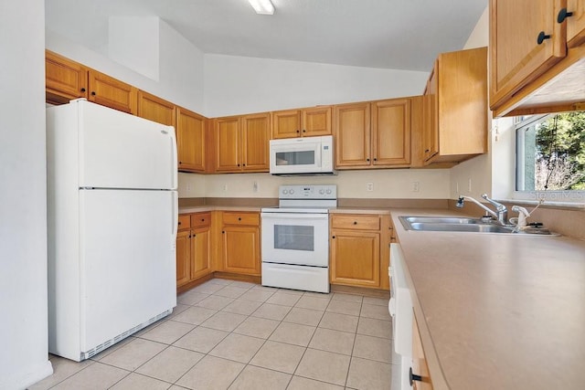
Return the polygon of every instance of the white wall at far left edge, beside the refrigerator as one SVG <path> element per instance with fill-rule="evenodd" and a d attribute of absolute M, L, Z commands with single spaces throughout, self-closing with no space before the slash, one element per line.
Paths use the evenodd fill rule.
<path fill-rule="evenodd" d="M 0 3 L 0 389 L 48 362 L 45 4 Z"/>

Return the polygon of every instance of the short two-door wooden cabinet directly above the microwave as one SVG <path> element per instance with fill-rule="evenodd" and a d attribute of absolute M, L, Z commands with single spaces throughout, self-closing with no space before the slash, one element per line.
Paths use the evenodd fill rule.
<path fill-rule="evenodd" d="M 331 134 L 331 106 L 272 112 L 272 139 Z"/>

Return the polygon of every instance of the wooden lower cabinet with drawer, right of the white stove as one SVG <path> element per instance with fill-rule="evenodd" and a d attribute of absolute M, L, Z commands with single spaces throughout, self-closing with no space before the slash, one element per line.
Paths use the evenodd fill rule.
<path fill-rule="evenodd" d="M 332 215 L 332 284 L 388 290 L 389 217 Z"/>

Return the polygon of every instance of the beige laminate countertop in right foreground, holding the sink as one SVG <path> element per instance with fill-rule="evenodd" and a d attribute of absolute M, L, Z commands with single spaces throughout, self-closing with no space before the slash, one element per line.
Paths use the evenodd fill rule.
<path fill-rule="evenodd" d="M 391 212 L 435 389 L 585 388 L 585 242 L 407 231 L 400 215 L 454 214 Z"/>

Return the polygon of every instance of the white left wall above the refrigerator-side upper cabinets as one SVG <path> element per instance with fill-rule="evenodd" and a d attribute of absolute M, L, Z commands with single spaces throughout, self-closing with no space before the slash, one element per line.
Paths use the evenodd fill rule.
<path fill-rule="evenodd" d="M 186 109 L 204 113 L 204 55 L 197 47 L 191 45 L 165 21 L 158 19 L 158 79 L 150 79 L 142 72 L 144 67 L 133 65 L 138 62 L 140 53 L 133 52 L 132 61 L 125 61 L 125 66 L 115 62 L 106 55 L 92 51 L 87 47 L 71 42 L 66 37 L 47 31 L 46 45 L 49 50 L 71 58 L 92 69 L 99 70 L 116 79 L 153 93 L 165 100 L 183 106 Z M 133 24 L 137 26 L 137 24 Z M 142 26 L 145 26 L 144 24 Z M 118 34 L 122 34 L 118 31 Z M 108 48 L 104 47 L 104 53 Z M 153 53 L 146 50 L 144 61 L 152 61 Z M 128 58 L 126 58 L 128 59 Z M 134 67 L 135 69 L 129 68 Z M 152 68 L 152 67 L 151 67 Z M 150 70 L 153 71 L 152 69 Z"/>

